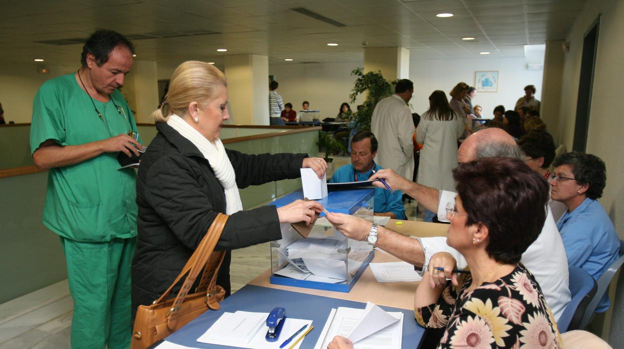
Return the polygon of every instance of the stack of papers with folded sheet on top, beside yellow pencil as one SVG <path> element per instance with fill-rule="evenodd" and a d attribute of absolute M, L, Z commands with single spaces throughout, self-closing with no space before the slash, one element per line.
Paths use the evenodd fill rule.
<path fill-rule="evenodd" d="M 314 349 L 327 348 L 336 336 L 349 338 L 355 349 L 400 349 L 402 333 L 403 313 L 368 302 L 365 309 L 332 309 Z"/>

